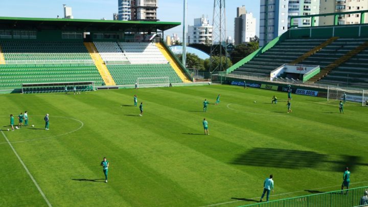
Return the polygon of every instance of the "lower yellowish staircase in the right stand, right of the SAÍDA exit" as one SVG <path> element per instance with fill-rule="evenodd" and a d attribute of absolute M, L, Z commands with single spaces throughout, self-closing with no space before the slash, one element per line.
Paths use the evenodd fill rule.
<path fill-rule="evenodd" d="M 356 47 L 354 50 L 348 52 L 347 54 L 341 56 L 339 59 L 335 60 L 333 63 L 327 65 L 325 68 L 321 68 L 320 73 L 309 79 L 307 82 L 316 82 L 319 81 L 321 78 L 328 75 L 331 70 L 338 67 L 340 64 L 348 61 L 353 56 L 357 55 L 358 53 L 362 52 L 363 50 L 368 48 L 368 41 L 362 43 L 358 47 Z"/>

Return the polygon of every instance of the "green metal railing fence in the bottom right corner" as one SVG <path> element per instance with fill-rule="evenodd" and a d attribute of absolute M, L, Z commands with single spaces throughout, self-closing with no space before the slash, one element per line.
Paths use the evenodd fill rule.
<path fill-rule="evenodd" d="M 353 188 L 349 190 L 318 193 L 307 196 L 299 196 L 269 202 L 243 205 L 254 207 L 353 207 L 366 206 L 360 199 L 368 187 Z M 243 207 L 241 206 L 241 207 Z"/>

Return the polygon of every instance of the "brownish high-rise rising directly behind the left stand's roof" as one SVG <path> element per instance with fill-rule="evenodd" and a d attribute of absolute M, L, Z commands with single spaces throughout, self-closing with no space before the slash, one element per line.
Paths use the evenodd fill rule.
<path fill-rule="evenodd" d="M 158 0 L 131 0 L 131 19 L 143 21 L 158 21 Z"/>

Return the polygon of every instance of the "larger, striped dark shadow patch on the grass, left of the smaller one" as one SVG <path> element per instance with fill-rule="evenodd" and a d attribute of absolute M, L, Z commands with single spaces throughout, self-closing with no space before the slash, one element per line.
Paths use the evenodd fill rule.
<path fill-rule="evenodd" d="M 326 158 L 325 154 L 311 151 L 253 148 L 240 154 L 232 164 L 290 169 L 313 168 Z"/>

